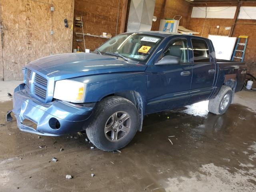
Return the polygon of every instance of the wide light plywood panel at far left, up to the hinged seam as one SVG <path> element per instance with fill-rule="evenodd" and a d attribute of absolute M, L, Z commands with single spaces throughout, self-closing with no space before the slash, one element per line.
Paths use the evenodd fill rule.
<path fill-rule="evenodd" d="M 51 14 L 49 4 L 18 0 L 2 2 L 4 80 L 22 80 L 28 62 L 49 55 Z"/>

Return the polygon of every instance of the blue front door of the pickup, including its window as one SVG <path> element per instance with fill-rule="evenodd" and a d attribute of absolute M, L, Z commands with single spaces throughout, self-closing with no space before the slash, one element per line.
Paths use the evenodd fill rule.
<path fill-rule="evenodd" d="M 179 64 L 148 66 L 148 94 L 146 113 L 154 113 L 186 105 L 190 98 L 192 64 L 188 61 L 186 38 L 172 39 L 162 52 L 180 60 Z"/>

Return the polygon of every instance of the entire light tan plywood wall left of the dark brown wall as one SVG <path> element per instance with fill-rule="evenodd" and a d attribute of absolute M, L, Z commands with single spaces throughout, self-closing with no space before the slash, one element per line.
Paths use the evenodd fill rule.
<path fill-rule="evenodd" d="M 22 80 L 21 68 L 32 60 L 71 52 L 73 10 L 74 0 L 2 1 L 4 80 Z M 64 27 L 64 18 L 69 28 Z"/>

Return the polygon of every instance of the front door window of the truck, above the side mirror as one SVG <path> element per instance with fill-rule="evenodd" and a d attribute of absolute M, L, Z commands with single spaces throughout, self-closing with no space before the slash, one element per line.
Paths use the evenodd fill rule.
<path fill-rule="evenodd" d="M 164 50 L 163 56 L 174 56 L 180 60 L 180 63 L 188 62 L 188 44 L 186 39 L 172 40 Z"/>

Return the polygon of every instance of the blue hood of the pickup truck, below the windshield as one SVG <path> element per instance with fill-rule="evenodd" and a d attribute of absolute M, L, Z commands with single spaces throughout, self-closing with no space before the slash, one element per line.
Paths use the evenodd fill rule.
<path fill-rule="evenodd" d="M 55 80 L 110 72 L 144 71 L 146 65 L 94 53 L 67 53 L 47 56 L 27 64 L 29 69 Z"/>

